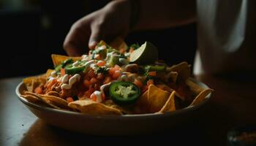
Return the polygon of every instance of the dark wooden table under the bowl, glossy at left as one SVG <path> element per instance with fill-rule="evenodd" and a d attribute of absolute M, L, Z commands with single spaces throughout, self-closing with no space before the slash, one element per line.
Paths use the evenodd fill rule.
<path fill-rule="evenodd" d="M 205 82 L 215 91 L 193 122 L 168 129 L 161 134 L 129 137 L 79 134 L 50 126 L 35 117 L 15 94 L 15 88 L 22 78 L 0 80 L 0 145 L 86 145 L 89 142 L 225 145 L 230 128 L 246 124 L 256 125 L 255 82 L 234 82 L 219 77 L 197 76 L 197 80 Z"/>

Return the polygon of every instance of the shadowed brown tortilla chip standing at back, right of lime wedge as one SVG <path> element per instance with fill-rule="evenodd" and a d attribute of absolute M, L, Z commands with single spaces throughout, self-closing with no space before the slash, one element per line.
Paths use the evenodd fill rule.
<path fill-rule="evenodd" d="M 178 72 L 178 77 L 182 80 L 187 80 L 190 77 L 190 67 L 187 62 L 167 67 L 166 70 L 167 72 Z"/>

